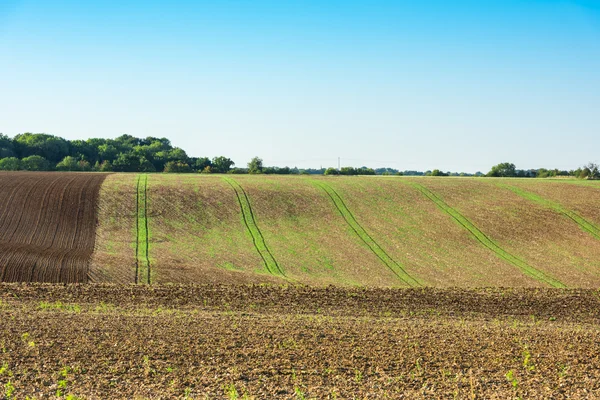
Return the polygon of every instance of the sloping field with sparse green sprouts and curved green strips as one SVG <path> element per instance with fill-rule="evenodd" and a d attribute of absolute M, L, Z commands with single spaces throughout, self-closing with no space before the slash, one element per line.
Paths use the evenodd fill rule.
<path fill-rule="evenodd" d="M 92 279 L 597 287 L 599 210 L 578 181 L 114 174 Z"/>

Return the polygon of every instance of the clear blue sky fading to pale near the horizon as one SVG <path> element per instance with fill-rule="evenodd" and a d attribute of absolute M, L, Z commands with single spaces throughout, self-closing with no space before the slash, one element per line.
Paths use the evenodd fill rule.
<path fill-rule="evenodd" d="M 0 0 L 0 132 L 574 169 L 600 162 L 600 0 Z"/>

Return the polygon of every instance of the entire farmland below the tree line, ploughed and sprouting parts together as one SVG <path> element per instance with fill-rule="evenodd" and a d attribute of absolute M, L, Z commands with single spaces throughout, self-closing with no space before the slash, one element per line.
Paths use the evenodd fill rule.
<path fill-rule="evenodd" d="M 597 398 L 599 210 L 575 180 L 3 173 L 0 396 Z"/>

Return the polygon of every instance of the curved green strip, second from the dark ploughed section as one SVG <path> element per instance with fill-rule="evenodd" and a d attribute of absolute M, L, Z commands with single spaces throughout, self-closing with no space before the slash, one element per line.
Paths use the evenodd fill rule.
<path fill-rule="evenodd" d="M 246 225 L 246 229 L 250 233 L 252 237 L 252 242 L 254 243 L 254 248 L 262 258 L 265 268 L 271 275 L 283 276 L 283 270 L 273 257 L 271 250 L 267 246 L 265 242 L 265 238 L 260 231 L 258 225 L 256 224 L 256 219 L 254 218 L 254 212 L 252 211 L 252 206 L 250 205 L 250 200 L 248 199 L 248 195 L 246 191 L 237 183 L 235 180 L 227 177 L 223 178 L 229 185 L 233 188 L 235 195 L 238 199 L 238 203 L 240 204 L 240 209 L 242 210 L 242 216 L 244 219 L 244 225 Z"/>

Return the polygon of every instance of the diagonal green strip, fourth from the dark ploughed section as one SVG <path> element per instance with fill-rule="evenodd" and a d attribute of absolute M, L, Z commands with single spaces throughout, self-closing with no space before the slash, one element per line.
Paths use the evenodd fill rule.
<path fill-rule="evenodd" d="M 467 219 L 464 215 L 456 211 L 454 208 L 450 207 L 446 204 L 441 198 L 436 196 L 432 191 L 427 189 L 426 187 L 419 185 L 418 183 L 409 182 L 415 189 L 418 189 L 421 193 L 423 193 L 428 199 L 433 201 L 439 208 L 441 208 L 444 212 L 449 214 L 456 222 L 462 225 L 467 231 L 469 231 L 479 243 L 483 246 L 487 247 L 489 250 L 493 251 L 498 257 L 503 260 L 509 262 L 515 267 L 519 268 L 525 275 L 530 276 L 540 282 L 544 282 L 552 287 L 556 288 L 564 288 L 566 285 L 559 280 L 545 274 L 544 272 L 532 267 L 527 264 L 525 261 L 521 260 L 518 257 L 510 254 L 498 244 L 496 244 L 493 240 L 486 236 L 485 233 L 479 230 L 469 219 Z"/>

